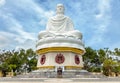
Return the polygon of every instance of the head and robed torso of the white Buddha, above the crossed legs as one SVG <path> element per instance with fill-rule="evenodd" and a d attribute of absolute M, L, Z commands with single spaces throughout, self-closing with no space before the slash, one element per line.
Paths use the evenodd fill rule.
<path fill-rule="evenodd" d="M 62 4 L 57 5 L 56 15 L 48 20 L 46 29 L 57 33 L 74 30 L 71 19 L 64 15 L 64 6 Z"/>

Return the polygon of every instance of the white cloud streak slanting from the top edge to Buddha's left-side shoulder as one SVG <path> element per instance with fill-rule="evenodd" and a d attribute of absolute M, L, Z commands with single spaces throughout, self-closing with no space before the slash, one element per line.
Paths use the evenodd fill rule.
<path fill-rule="evenodd" d="M 55 13 L 52 10 L 45 10 L 40 4 L 36 3 L 34 0 L 20 0 L 19 2 L 16 1 L 14 5 L 24 11 L 28 11 L 29 13 L 34 12 L 34 14 L 36 14 L 36 16 L 40 18 L 41 21 L 43 20 L 42 22 L 53 16 L 53 14 Z"/>

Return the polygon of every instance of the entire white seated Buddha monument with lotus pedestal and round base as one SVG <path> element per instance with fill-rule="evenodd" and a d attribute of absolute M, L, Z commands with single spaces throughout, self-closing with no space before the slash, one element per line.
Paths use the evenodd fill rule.
<path fill-rule="evenodd" d="M 71 19 L 64 15 L 62 4 L 57 5 L 56 15 L 48 20 L 46 30 L 39 32 L 36 52 L 40 69 L 76 70 L 83 67 L 82 34 L 74 30 Z"/>

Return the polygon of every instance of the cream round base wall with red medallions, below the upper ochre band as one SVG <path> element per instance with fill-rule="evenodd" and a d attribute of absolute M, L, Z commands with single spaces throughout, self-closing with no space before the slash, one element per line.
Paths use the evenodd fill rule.
<path fill-rule="evenodd" d="M 38 55 L 37 67 L 57 72 L 57 68 L 64 70 L 77 70 L 83 67 L 83 60 L 80 54 L 73 52 L 48 52 Z"/>

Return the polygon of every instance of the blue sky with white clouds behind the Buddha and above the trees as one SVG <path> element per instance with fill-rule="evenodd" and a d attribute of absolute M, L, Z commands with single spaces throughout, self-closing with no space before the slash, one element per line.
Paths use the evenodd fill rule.
<path fill-rule="evenodd" d="M 120 48 L 120 0 L 0 0 L 0 49 L 35 49 L 59 3 L 85 47 Z"/>

